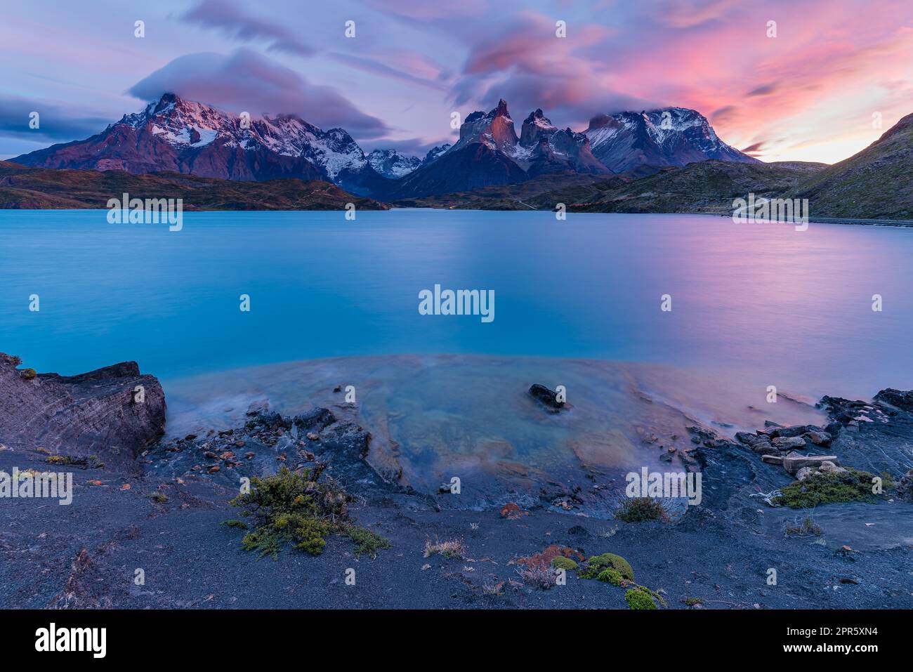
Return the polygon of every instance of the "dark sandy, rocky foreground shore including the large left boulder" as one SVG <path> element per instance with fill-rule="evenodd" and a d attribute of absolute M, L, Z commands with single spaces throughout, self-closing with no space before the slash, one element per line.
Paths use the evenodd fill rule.
<path fill-rule="evenodd" d="M 134 362 L 19 366 L 0 355 L 0 471 L 68 469 L 75 492 L 68 507 L 0 500 L 3 607 L 913 608 L 910 392 L 825 396 L 823 425 L 645 436 L 670 470 L 703 476 L 700 505 L 595 517 L 593 492 L 624 488 L 598 470 L 481 510 L 456 507 L 452 484 L 418 491 L 373 466 L 347 404 L 252 404 L 240 424 L 164 437 L 162 387 Z M 545 385 L 517 394 L 543 418 L 579 412 Z M 262 520 L 229 502 L 278 472 L 305 477 L 309 511 L 336 513 L 318 521 L 319 554 L 283 543 L 257 562 L 244 545 Z"/>

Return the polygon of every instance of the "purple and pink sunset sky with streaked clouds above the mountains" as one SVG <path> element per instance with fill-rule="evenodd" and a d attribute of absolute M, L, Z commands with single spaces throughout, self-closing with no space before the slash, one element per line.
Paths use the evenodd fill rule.
<path fill-rule="evenodd" d="M 410 153 L 498 98 L 518 126 L 541 107 L 575 130 L 691 107 L 767 161 L 839 161 L 913 112 L 909 0 L 0 2 L 0 158 L 88 137 L 164 90 Z"/>

